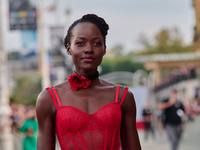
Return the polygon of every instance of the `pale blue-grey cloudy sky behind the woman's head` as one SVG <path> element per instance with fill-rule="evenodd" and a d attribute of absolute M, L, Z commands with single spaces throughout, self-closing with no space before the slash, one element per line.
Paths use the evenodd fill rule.
<path fill-rule="evenodd" d="M 7 0 L 3 0 L 6 2 Z M 54 0 L 43 0 L 44 8 Z M 127 50 L 137 49 L 141 33 L 153 37 L 162 28 L 177 26 L 186 43 L 192 42 L 195 24 L 192 0 L 57 0 L 57 12 L 45 12 L 45 45 L 49 47 L 48 26 L 60 24 L 66 27 L 87 13 L 103 17 L 110 26 L 107 47 L 122 44 Z M 71 14 L 64 11 L 69 8 Z M 6 10 L 5 10 L 6 11 Z M 6 19 L 5 19 L 6 20 Z M 5 48 L 20 48 L 18 31 L 10 32 L 5 27 Z M 12 40 L 13 44 L 8 43 Z"/>

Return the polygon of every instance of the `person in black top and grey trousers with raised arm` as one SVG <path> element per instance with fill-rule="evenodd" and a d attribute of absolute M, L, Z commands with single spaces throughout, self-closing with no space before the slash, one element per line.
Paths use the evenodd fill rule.
<path fill-rule="evenodd" d="M 171 143 L 172 150 L 177 150 L 182 135 L 182 117 L 184 116 L 184 106 L 178 100 L 177 90 L 173 90 L 170 98 L 157 104 L 157 108 L 165 112 L 165 129 Z"/>

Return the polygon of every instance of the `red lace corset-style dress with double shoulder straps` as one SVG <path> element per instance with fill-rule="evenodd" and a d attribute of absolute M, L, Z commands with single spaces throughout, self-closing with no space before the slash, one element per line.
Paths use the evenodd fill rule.
<path fill-rule="evenodd" d="M 121 104 L 118 103 L 120 86 L 115 102 L 104 105 L 93 114 L 73 106 L 62 106 L 54 87 L 47 88 L 56 107 L 55 130 L 62 150 L 119 150 Z M 57 105 L 58 103 L 58 105 Z"/>

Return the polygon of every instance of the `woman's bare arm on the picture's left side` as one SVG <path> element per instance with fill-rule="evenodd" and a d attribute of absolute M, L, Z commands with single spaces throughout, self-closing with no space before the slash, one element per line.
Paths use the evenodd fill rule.
<path fill-rule="evenodd" d="M 55 150 L 53 106 L 48 91 L 41 92 L 36 103 L 38 120 L 37 150 Z"/>

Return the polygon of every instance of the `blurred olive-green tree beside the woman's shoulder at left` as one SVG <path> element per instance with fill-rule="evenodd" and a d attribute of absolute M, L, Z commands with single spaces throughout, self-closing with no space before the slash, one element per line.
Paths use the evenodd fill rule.
<path fill-rule="evenodd" d="M 20 76 L 15 80 L 15 87 L 10 99 L 24 105 L 35 105 L 40 91 L 41 80 L 39 77 Z"/>

